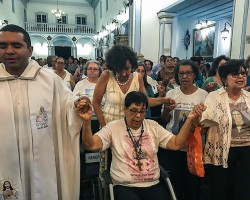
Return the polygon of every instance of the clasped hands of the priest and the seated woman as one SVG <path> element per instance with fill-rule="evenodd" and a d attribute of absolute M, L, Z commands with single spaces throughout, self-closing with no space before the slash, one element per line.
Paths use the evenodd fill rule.
<path fill-rule="evenodd" d="M 88 97 L 81 96 L 75 102 L 75 108 L 78 111 L 78 115 L 85 121 L 91 120 L 92 117 L 92 104 Z"/>

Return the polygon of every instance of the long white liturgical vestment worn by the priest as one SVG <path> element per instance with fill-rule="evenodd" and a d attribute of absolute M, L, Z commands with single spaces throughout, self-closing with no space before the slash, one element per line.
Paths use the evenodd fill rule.
<path fill-rule="evenodd" d="M 16 77 L 0 64 L 0 199 L 79 199 L 80 127 L 52 70 L 30 61 Z"/>

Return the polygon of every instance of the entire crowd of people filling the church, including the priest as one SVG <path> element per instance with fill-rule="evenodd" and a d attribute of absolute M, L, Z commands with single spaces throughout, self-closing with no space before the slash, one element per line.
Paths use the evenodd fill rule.
<path fill-rule="evenodd" d="M 154 65 L 121 45 L 105 60 L 31 56 L 23 28 L 0 30 L 0 199 L 79 199 L 82 134 L 87 150 L 111 148 L 115 199 L 166 199 L 162 147 L 177 199 L 200 200 L 204 177 L 189 171 L 186 152 L 197 127 L 211 200 L 250 199 L 250 57 L 220 55 L 210 65 L 162 55 Z M 91 119 L 100 123 L 94 135 Z"/>

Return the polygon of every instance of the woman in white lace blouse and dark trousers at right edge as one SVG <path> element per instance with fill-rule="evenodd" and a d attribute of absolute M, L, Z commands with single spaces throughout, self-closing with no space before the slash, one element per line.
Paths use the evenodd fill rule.
<path fill-rule="evenodd" d="M 243 60 L 219 67 L 223 87 L 209 93 L 201 125 L 208 127 L 204 162 L 210 164 L 211 199 L 250 199 L 250 93 Z M 197 106 L 199 109 L 199 106 Z"/>

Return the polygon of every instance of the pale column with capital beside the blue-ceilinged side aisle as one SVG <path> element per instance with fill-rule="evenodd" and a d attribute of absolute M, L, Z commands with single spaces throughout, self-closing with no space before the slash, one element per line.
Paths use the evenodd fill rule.
<path fill-rule="evenodd" d="M 160 55 L 171 55 L 172 45 L 172 24 L 174 14 L 160 11 L 157 13 L 160 23 L 160 39 L 159 39 L 159 56 Z"/>

